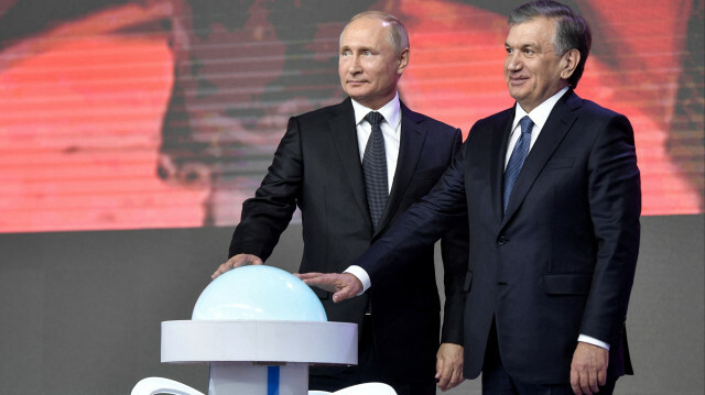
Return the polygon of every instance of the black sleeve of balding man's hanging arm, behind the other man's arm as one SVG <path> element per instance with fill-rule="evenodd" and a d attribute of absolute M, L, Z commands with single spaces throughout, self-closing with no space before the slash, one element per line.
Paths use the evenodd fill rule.
<path fill-rule="evenodd" d="M 460 151 L 463 134 L 456 131 L 456 142 L 451 157 Z M 442 343 L 463 344 L 463 317 L 465 314 L 465 292 L 463 282 L 468 259 L 467 216 L 459 216 L 457 223 L 441 239 L 443 259 L 443 285 L 445 305 L 443 312 Z"/>

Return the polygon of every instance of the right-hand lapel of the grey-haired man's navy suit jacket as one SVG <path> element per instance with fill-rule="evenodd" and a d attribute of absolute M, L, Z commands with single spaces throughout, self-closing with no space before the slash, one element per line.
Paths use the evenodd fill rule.
<path fill-rule="evenodd" d="M 555 149 L 561 144 L 565 134 L 571 130 L 577 118 L 573 110 L 581 107 L 582 100 L 572 90 L 568 90 L 553 107 L 546 123 L 541 129 L 541 134 L 534 143 L 517 178 L 517 184 L 511 191 L 511 198 L 503 223 L 517 211 L 527 197 L 534 180 L 541 174 Z"/>

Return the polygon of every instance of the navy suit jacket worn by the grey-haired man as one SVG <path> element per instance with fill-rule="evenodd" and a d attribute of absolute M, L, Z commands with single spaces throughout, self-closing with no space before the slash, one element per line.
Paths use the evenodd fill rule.
<path fill-rule="evenodd" d="M 641 210 L 631 125 L 623 116 L 566 92 L 502 213 L 513 117 L 511 108 L 478 121 L 430 196 L 357 264 L 379 286 L 378 273 L 443 232 L 447 216 L 467 211 L 466 377 L 480 373 L 494 317 L 502 362 L 517 380 L 568 382 L 581 333 L 610 343 L 609 375 L 630 373 L 625 320 Z"/>

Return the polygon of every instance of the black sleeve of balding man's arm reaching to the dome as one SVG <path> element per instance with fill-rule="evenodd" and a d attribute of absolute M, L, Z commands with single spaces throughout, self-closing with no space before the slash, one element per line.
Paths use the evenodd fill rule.
<path fill-rule="evenodd" d="M 242 204 L 228 256 L 247 253 L 267 260 L 271 255 L 296 209 L 302 182 L 301 131 L 294 117 L 254 197 Z"/>

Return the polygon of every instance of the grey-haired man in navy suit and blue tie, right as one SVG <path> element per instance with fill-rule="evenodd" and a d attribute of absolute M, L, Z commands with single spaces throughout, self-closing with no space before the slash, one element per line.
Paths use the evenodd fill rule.
<path fill-rule="evenodd" d="M 611 394 L 631 373 L 625 321 L 639 251 L 640 173 L 626 117 L 581 99 L 583 18 L 513 10 L 505 78 L 516 106 L 478 121 L 441 182 L 356 264 L 384 287 L 399 261 L 467 212 L 465 376 L 484 394 Z M 349 274 L 303 274 L 344 300 Z M 367 288 L 365 288 L 367 289 Z"/>

